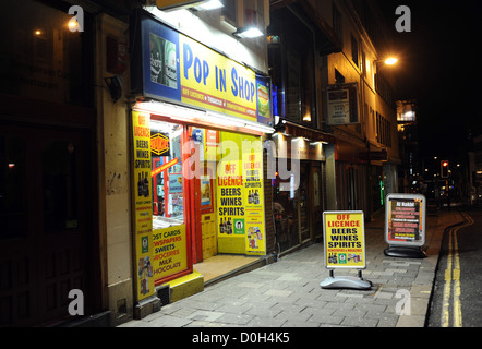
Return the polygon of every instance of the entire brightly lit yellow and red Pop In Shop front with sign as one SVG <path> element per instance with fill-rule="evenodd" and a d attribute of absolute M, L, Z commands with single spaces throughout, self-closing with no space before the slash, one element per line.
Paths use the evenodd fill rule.
<path fill-rule="evenodd" d="M 131 112 L 137 301 L 216 255 L 267 254 L 262 136 L 274 131 L 267 76 L 140 19 Z"/>

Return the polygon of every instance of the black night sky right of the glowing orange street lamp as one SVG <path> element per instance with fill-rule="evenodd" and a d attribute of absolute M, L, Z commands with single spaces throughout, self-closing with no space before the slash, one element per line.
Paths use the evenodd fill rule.
<path fill-rule="evenodd" d="M 456 159 L 482 134 L 482 1 L 378 2 L 400 58 L 397 98 L 419 104 L 420 153 Z M 395 29 L 400 4 L 411 10 L 410 33 Z"/>

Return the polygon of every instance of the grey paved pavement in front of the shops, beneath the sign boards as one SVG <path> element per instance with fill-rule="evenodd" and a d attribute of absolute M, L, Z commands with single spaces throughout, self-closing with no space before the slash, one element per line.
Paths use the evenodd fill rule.
<path fill-rule="evenodd" d="M 457 210 L 427 216 L 425 258 L 386 256 L 384 215 L 366 222 L 370 290 L 322 289 L 329 272 L 315 243 L 119 327 L 424 327 L 444 230 L 462 221 Z"/>

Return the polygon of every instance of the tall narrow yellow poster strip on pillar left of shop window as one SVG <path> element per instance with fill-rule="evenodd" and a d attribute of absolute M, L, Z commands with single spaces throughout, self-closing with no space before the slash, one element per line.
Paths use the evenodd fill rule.
<path fill-rule="evenodd" d="M 133 230 L 137 300 L 154 294 L 153 203 L 150 193 L 150 116 L 132 112 L 133 131 Z"/>

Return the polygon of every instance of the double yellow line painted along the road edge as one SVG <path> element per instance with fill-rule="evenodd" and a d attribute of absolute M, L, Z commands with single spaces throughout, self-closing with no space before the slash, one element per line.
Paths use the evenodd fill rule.
<path fill-rule="evenodd" d="M 442 327 L 450 325 L 450 297 L 454 291 L 454 327 L 462 327 L 462 309 L 460 303 L 460 256 L 457 242 L 457 232 L 473 225 L 473 219 L 462 213 L 466 220 L 461 226 L 451 228 L 448 236 L 447 268 L 445 269 L 444 300 L 442 305 Z M 454 285 L 454 290 L 451 286 Z"/>

